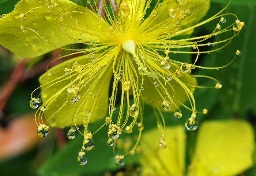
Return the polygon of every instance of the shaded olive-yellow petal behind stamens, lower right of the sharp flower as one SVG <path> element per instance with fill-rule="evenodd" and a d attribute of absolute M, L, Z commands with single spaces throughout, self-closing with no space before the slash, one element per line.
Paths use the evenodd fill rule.
<path fill-rule="evenodd" d="M 178 66 L 172 65 L 169 70 L 171 73 L 174 73 L 179 68 L 180 67 Z M 165 98 L 165 93 L 166 93 L 165 82 L 163 78 L 160 78 L 159 80 L 161 81 L 162 86 L 160 83 L 157 82 L 157 80 L 153 80 L 152 78 L 148 78 L 147 76 L 144 77 L 143 87 L 145 89 L 141 92 L 141 94 L 143 96 L 143 100 L 146 103 L 151 104 L 151 102 L 153 101 L 154 105 L 158 106 L 160 110 L 163 110 L 161 106 L 162 106 L 162 102 L 165 101 L 165 99 L 163 99 Z M 189 85 L 197 85 L 197 82 L 195 78 L 192 78 L 188 73 L 185 73 L 181 77 L 173 77 L 171 81 L 168 81 L 166 83 L 166 88 L 170 97 L 173 97 L 174 95 L 172 100 L 173 103 L 176 103 L 176 105 L 179 106 L 180 104 L 178 102 L 184 103 L 185 101 L 187 101 L 188 95 L 184 90 L 184 88 L 181 86 L 182 83 L 180 84 L 177 81 L 180 81 L 183 84 L 189 84 Z M 154 84 L 154 82 L 157 82 L 157 86 Z M 170 83 L 172 87 L 168 85 L 168 83 Z M 191 87 L 191 86 L 187 86 L 187 87 L 192 92 L 195 90 L 194 87 Z M 161 95 L 163 96 L 163 98 L 161 97 Z M 171 108 L 173 110 L 177 109 L 176 106 L 174 106 L 173 104 L 171 104 Z M 169 110 L 166 112 L 172 112 L 172 111 Z"/>

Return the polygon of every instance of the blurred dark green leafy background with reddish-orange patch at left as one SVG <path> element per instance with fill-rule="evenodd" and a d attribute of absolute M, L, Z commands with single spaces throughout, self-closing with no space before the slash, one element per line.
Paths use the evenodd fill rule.
<path fill-rule="evenodd" d="M 18 0 L 0 0 L 0 14 L 10 13 L 17 2 Z M 219 12 L 227 3 L 228 0 L 211 0 L 210 10 L 204 19 Z M 242 52 L 241 56 L 224 69 L 195 70 L 195 74 L 208 75 L 218 79 L 223 86 L 219 90 L 197 89 L 195 91 L 197 109 L 208 109 L 207 115 L 198 115 L 199 128 L 200 123 L 206 120 L 233 118 L 246 120 L 251 123 L 254 129 L 256 128 L 255 7 L 255 0 L 233 0 L 224 12 L 235 13 L 239 20 L 244 21 L 245 27 L 242 28 L 239 36 L 235 37 L 224 49 L 200 55 L 200 65 L 217 67 L 227 64 L 234 57 L 234 51 L 240 50 Z M 218 22 L 218 20 L 216 21 Z M 209 25 L 196 28 L 192 35 L 208 34 L 214 25 L 216 24 L 209 23 Z M 221 38 L 216 37 L 212 40 L 219 41 Z M 205 49 L 211 50 L 211 47 Z M 38 78 L 46 69 L 46 63 L 49 62 L 47 59 L 58 55 L 58 52 L 60 51 L 54 51 L 44 58 L 37 58 L 32 62 L 26 61 L 25 64 L 20 61 L 19 56 L 11 54 L 0 46 L 0 90 L 2 95 L 4 90 L 8 89 L 7 86 L 12 85 L 11 83 L 15 79 L 15 76 L 12 77 L 14 70 L 19 70 L 19 68 L 24 70 L 20 75 L 21 81 L 16 83 L 14 81 L 15 84 L 12 85 L 14 90 L 10 91 L 9 89 L 10 96 L 5 98 L 6 103 L 0 102 L 0 107 L 3 107 L 2 112 L 0 112 L 0 133 L 4 134 L 2 135 L 4 137 L 0 138 L 0 145 L 8 144 L 6 148 L 0 148 L 1 175 L 103 175 L 106 171 L 114 175 L 119 169 L 123 171 L 124 168 L 117 168 L 114 164 L 112 149 L 106 146 L 106 137 L 102 137 L 105 132 L 95 135 L 94 141 L 98 141 L 98 144 L 93 151 L 88 152 L 87 158 L 90 158 L 90 162 L 88 161 L 84 167 L 76 163 L 82 139 L 79 135 L 75 140 L 67 141 L 65 134 L 68 129 L 52 129 L 51 133 L 43 140 L 37 137 L 36 126 L 33 121 L 31 122 L 35 112 L 29 107 L 30 94 L 39 86 Z M 192 55 L 186 57 L 188 59 L 193 58 Z M 211 82 L 199 80 L 199 85 L 207 86 L 210 84 Z M 163 114 L 164 117 L 170 116 L 168 113 Z M 186 114 L 184 111 L 182 116 L 189 116 L 189 112 Z M 145 106 L 144 117 L 148 119 L 147 123 L 144 124 L 144 131 L 156 126 L 154 113 L 152 113 L 150 106 Z M 22 120 L 18 121 L 19 119 Z M 172 117 L 166 120 L 166 124 L 183 125 L 185 120 L 186 118 L 177 120 Z M 101 124 L 102 122 L 97 123 Z M 97 123 L 93 125 L 98 126 Z M 16 130 L 11 131 L 11 128 Z M 195 140 L 196 134 L 197 130 L 195 132 L 188 131 L 188 140 L 191 138 Z M 20 141 L 20 138 L 25 138 L 26 142 Z M 188 143 L 191 144 L 191 142 Z M 187 147 L 191 146 L 188 145 Z M 189 154 L 187 153 L 187 155 Z M 137 157 L 127 157 L 127 160 L 132 163 L 137 160 Z M 189 161 L 187 161 L 188 164 Z M 256 175 L 256 165 L 244 171 L 243 174 Z"/>

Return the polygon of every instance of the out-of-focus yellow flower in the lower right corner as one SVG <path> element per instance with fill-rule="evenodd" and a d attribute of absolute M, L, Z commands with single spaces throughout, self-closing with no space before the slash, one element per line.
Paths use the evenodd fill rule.
<path fill-rule="evenodd" d="M 142 149 L 142 175 L 232 176 L 253 165 L 254 133 L 245 121 L 204 122 L 197 133 L 194 152 L 194 138 L 187 138 L 182 126 L 166 128 L 166 149 L 156 144 L 155 133 L 157 129 L 146 132 L 138 148 Z M 187 168 L 186 156 L 190 157 Z"/>

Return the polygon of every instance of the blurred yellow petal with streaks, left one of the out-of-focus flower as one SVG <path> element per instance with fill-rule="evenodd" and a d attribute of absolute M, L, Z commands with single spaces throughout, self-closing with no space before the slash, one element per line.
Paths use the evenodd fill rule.
<path fill-rule="evenodd" d="M 181 176 L 185 167 L 185 133 L 183 126 L 167 127 L 167 147 L 159 146 L 158 129 L 142 135 L 140 141 L 142 175 Z M 139 150 L 138 149 L 138 150 Z"/>

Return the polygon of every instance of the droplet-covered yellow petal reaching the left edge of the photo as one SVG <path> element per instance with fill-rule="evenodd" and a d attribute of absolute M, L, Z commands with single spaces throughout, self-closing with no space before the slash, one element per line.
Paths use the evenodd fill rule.
<path fill-rule="evenodd" d="M 53 2 L 55 7 L 50 0 L 21 0 L 14 11 L 0 19 L 0 44 L 20 56 L 34 58 L 56 47 L 79 43 L 78 39 L 94 43 L 105 40 L 97 32 L 107 31 L 108 25 L 102 24 L 97 14 L 68 0 Z"/>

